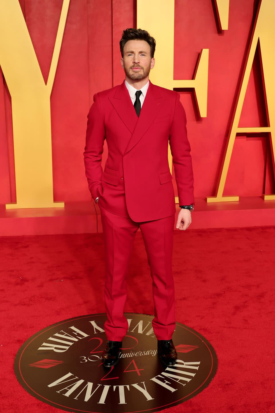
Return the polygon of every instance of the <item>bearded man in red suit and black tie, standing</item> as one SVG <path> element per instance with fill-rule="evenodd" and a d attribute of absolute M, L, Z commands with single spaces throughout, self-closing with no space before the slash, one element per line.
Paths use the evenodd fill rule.
<path fill-rule="evenodd" d="M 193 169 L 186 115 L 174 90 L 149 80 L 155 65 L 155 39 L 145 30 L 128 28 L 120 40 L 125 80 L 94 95 L 87 115 L 84 161 L 89 190 L 101 211 L 106 251 L 104 299 L 107 336 L 103 365 L 119 360 L 128 330 L 124 316 L 126 275 L 132 243 L 140 228 L 153 284 L 152 321 L 158 354 L 166 366 L 176 362 L 172 248 L 175 199 L 168 162 L 173 157 L 181 207 L 176 228 L 186 230 L 194 208 Z M 160 68 L 161 70 L 161 68 Z M 103 143 L 108 144 L 104 171 Z"/>

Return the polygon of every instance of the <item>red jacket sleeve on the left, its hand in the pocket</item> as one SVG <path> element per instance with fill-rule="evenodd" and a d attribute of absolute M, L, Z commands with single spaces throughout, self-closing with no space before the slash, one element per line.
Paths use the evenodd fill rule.
<path fill-rule="evenodd" d="M 87 115 L 86 145 L 84 151 L 85 174 L 88 187 L 94 200 L 100 195 L 102 166 L 101 159 L 105 139 L 105 126 L 101 115 L 98 94 L 94 94 L 94 102 Z"/>

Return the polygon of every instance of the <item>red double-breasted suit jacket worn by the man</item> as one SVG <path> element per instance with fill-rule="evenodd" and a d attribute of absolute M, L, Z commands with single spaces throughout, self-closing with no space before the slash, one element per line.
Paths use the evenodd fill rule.
<path fill-rule="evenodd" d="M 125 81 L 95 93 L 87 115 L 85 171 L 93 199 L 113 214 L 135 222 L 176 212 L 170 145 L 179 205 L 194 204 L 193 168 L 186 114 L 174 90 L 149 87 L 139 117 Z M 103 143 L 108 158 L 101 166 Z"/>

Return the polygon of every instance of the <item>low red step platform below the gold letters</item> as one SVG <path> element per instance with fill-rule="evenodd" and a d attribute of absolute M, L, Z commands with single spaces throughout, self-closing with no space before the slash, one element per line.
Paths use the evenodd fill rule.
<path fill-rule="evenodd" d="M 179 211 L 176 204 L 176 211 Z M 175 215 L 175 229 L 176 229 Z M 275 225 L 275 201 L 240 197 L 237 202 L 207 203 L 195 199 L 188 230 Z M 100 209 L 92 202 L 71 202 L 65 208 L 5 209 L 0 206 L 0 236 L 102 232 Z"/>

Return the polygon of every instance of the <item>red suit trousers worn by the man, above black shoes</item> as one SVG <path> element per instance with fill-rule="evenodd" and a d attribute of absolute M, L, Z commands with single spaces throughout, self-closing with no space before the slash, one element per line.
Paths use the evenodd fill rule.
<path fill-rule="evenodd" d="M 113 214 L 100 205 L 106 256 L 104 299 L 107 319 L 104 329 L 108 340 L 122 341 L 128 322 L 124 316 L 127 299 L 126 276 L 136 231 L 140 228 L 153 287 L 155 317 L 153 330 L 158 340 L 169 340 L 175 330 L 174 279 L 172 250 L 175 214 L 154 221 L 134 222 Z M 157 208 L 157 206 L 156 206 Z"/>

